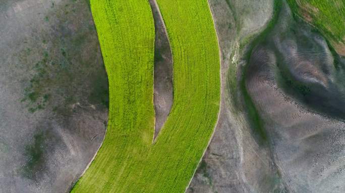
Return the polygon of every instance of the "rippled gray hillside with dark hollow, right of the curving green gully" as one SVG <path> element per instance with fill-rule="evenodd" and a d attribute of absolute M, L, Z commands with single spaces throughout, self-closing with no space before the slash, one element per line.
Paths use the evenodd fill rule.
<path fill-rule="evenodd" d="M 345 192 L 344 67 L 287 4 L 252 52 L 246 87 L 290 192 Z"/>

